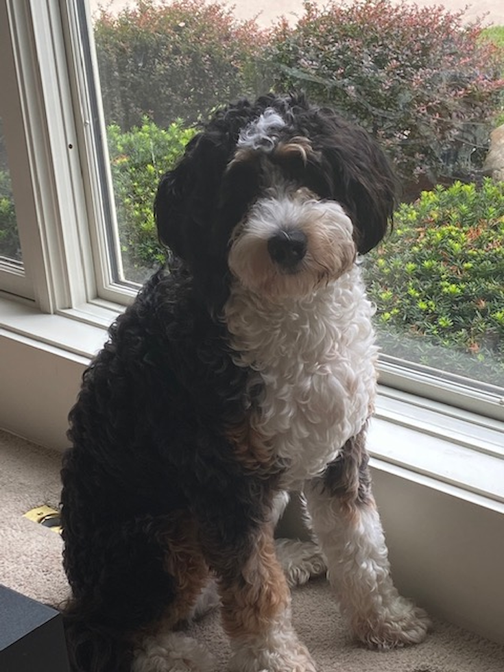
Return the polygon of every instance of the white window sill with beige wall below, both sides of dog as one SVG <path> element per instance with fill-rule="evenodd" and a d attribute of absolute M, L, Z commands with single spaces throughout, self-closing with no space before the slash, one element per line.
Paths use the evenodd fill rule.
<path fill-rule="evenodd" d="M 89 359 L 119 313 L 0 297 L 0 427 L 62 450 Z M 503 423 L 381 386 L 368 446 L 394 577 L 431 613 L 504 642 Z"/>

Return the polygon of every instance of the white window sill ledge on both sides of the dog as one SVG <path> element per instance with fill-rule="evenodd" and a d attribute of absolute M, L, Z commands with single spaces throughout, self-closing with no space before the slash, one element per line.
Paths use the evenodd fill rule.
<path fill-rule="evenodd" d="M 97 302 L 45 315 L 29 304 L 0 296 L 0 338 L 4 347 L 8 341 L 17 343 L 72 361 L 83 370 L 103 346 L 106 329 L 121 310 L 115 304 Z M 10 369 L 9 360 L 3 361 Z M 16 365 L 19 362 L 12 368 Z M 32 369 L 30 378 L 34 374 Z M 80 376 L 76 387 L 79 382 Z M 67 401 L 70 406 L 71 400 Z M 15 431 L 22 433 L 23 428 Z M 504 505 L 503 432 L 504 423 L 499 420 L 380 385 L 368 444 L 372 456 L 383 464 L 455 487 L 474 501 L 484 497 Z M 49 444 L 60 448 L 61 437 L 55 436 Z"/>

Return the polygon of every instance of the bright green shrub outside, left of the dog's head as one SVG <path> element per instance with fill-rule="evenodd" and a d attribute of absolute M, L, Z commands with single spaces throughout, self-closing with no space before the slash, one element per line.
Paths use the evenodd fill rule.
<path fill-rule="evenodd" d="M 118 125 L 108 126 L 119 241 L 129 280 L 142 281 L 143 269 L 152 269 L 165 259 L 154 223 L 154 196 L 160 177 L 175 165 L 194 133 L 180 120 L 166 129 L 146 118 L 128 132 Z"/>

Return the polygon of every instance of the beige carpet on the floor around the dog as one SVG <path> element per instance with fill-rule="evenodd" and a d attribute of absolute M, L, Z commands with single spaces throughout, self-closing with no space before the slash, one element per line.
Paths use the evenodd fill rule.
<path fill-rule="evenodd" d="M 23 514 L 42 504 L 58 504 L 59 467 L 57 453 L 0 431 L 0 584 L 49 603 L 67 595 L 61 539 Z M 320 672 L 504 672 L 503 646 L 440 621 L 417 647 L 364 649 L 349 638 L 322 580 L 293 592 L 293 613 Z M 217 614 L 192 631 L 217 657 L 216 672 L 224 672 L 229 648 Z"/>

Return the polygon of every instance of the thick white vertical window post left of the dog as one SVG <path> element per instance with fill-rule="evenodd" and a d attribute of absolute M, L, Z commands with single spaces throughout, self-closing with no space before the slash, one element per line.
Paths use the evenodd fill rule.
<path fill-rule="evenodd" d="M 87 219 L 86 202 L 60 7 L 56 0 L 10 0 L 8 9 L 36 208 L 35 221 L 21 221 L 25 239 L 29 235 L 23 259 L 40 309 L 54 312 L 95 296 L 79 226 Z"/>

